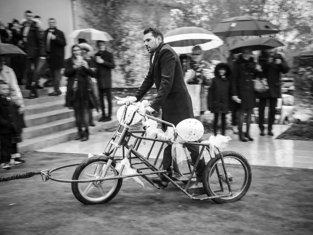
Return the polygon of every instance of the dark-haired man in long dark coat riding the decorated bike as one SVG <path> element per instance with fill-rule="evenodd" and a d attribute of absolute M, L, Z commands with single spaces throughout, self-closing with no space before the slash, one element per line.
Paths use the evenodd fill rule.
<path fill-rule="evenodd" d="M 194 118 L 192 102 L 185 85 L 179 56 L 163 42 L 163 34 L 156 28 L 146 28 L 143 32 L 145 47 L 150 53 L 150 68 L 140 88 L 134 94 L 137 101 L 156 85 L 157 95 L 150 106 L 146 107 L 148 113 L 162 109 L 162 119 L 177 125 L 186 118 Z M 163 126 L 165 131 L 165 126 Z M 199 155 L 199 147 L 187 145 L 191 152 L 191 159 L 195 163 Z M 167 170 L 170 177 L 172 164 L 172 145 L 164 149 L 163 169 Z M 196 174 L 198 182 L 202 181 L 204 160 L 200 160 Z M 167 179 L 159 175 L 153 182 L 162 188 L 168 185 Z"/>

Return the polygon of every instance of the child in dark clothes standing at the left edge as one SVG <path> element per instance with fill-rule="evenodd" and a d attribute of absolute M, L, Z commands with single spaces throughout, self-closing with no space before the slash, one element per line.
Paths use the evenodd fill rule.
<path fill-rule="evenodd" d="M 9 85 L 0 80 L 0 164 L 3 169 L 23 163 L 11 158 L 17 153 L 17 142 L 21 141 L 22 123 L 19 108 L 9 93 Z"/>

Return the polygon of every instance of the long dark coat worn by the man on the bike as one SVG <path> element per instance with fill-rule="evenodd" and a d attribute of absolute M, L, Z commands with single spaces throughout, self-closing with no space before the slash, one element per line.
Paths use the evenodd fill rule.
<path fill-rule="evenodd" d="M 150 60 L 153 54 L 150 55 Z M 183 79 L 179 56 L 163 42 L 156 48 L 152 66 L 140 88 L 134 94 L 137 101 L 156 84 L 157 95 L 150 106 L 162 109 L 162 119 L 177 125 L 181 120 L 194 118 L 191 97 Z"/>

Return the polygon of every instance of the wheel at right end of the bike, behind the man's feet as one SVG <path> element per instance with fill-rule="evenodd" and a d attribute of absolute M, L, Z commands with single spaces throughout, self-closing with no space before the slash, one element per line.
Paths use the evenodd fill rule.
<path fill-rule="evenodd" d="M 205 167 L 203 188 L 208 196 L 220 196 L 212 198 L 217 203 L 235 202 L 245 196 L 251 185 L 251 167 L 246 158 L 240 153 L 224 151 L 222 154 L 226 174 L 222 166 L 221 156 L 218 154 Z M 226 177 L 231 192 L 229 192 Z"/>

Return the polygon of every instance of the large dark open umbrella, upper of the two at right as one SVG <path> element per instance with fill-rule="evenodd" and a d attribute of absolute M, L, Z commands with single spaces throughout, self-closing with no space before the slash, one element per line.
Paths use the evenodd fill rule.
<path fill-rule="evenodd" d="M 225 19 L 212 30 L 218 36 L 260 36 L 278 33 L 280 30 L 267 20 L 252 16 L 237 16 Z"/>

